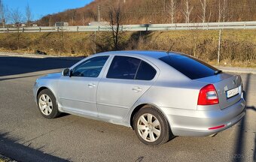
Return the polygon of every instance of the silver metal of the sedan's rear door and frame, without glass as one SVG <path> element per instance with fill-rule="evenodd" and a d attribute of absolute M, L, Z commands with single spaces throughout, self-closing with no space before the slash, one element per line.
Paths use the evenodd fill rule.
<path fill-rule="evenodd" d="M 105 74 L 99 82 L 97 92 L 97 108 L 99 118 L 113 118 L 116 121 L 123 121 L 134 103 L 150 89 L 157 80 L 160 70 L 152 63 L 142 57 L 132 56 L 148 62 L 157 71 L 153 80 L 119 80 L 106 78 L 108 68 L 111 65 L 109 62 Z M 114 58 L 114 56 L 113 56 Z M 112 59 L 113 59 L 112 58 Z M 133 89 L 141 89 L 141 92 L 136 92 Z M 110 95 L 111 94 L 111 95 Z"/>

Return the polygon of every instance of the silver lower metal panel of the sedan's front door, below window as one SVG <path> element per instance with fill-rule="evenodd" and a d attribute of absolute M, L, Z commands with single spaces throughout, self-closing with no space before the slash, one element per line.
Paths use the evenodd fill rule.
<path fill-rule="evenodd" d="M 98 115 L 96 89 L 99 78 L 61 77 L 59 79 L 59 104 L 64 111 Z M 94 86 L 89 87 L 90 84 Z"/>

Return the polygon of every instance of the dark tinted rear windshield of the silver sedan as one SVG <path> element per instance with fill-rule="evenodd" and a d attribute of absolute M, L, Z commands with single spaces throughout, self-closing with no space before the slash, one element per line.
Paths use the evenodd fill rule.
<path fill-rule="evenodd" d="M 210 77 L 215 75 L 215 71 L 218 71 L 218 69 L 211 65 L 207 65 L 205 62 L 192 58 L 189 55 L 167 55 L 159 59 L 191 80 Z"/>

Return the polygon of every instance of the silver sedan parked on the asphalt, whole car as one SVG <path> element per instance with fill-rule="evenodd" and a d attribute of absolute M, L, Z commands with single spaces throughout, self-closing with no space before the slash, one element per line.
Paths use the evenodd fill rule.
<path fill-rule="evenodd" d="M 177 52 L 91 55 L 36 80 L 34 96 L 45 118 L 69 113 L 133 127 L 148 145 L 210 136 L 245 115 L 240 76 Z"/>

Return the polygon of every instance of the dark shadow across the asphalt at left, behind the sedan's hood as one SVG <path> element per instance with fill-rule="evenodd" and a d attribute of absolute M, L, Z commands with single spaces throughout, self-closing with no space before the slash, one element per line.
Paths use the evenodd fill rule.
<path fill-rule="evenodd" d="M 0 57 L 0 77 L 27 74 L 37 71 L 47 71 L 59 68 L 69 68 L 82 58 L 23 58 Z"/>

